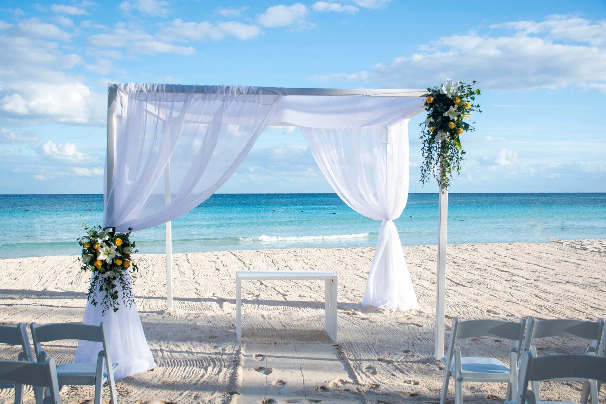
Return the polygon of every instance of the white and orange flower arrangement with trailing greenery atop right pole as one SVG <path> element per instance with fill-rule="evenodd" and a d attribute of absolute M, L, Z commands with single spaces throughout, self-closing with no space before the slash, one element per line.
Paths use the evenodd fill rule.
<path fill-rule="evenodd" d="M 465 150 L 461 147 L 460 136 L 475 129 L 468 122 L 472 112 L 482 112 L 479 104 L 471 104 L 480 95 L 480 90 L 471 89 L 476 84 L 465 84 L 448 79 L 446 84 L 427 89 L 425 110 L 427 119 L 421 123 L 423 164 L 421 182 L 428 183 L 436 178 L 448 189 L 453 172 L 461 173 Z"/>

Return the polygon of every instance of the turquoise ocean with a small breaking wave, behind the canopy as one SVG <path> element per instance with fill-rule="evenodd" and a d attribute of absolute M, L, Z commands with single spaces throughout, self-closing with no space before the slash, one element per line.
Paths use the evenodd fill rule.
<path fill-rule="evenodd" d="M 81 223 L 100 224 L 102 195 L 0 195 L 0 258 L 79 255 Z M 404 245 L 436 244 L 438 194 L 410 194 L 395 220 Z M 336 194 L 215 194 L 173 221 L 173 252 L 375 246 L 380 221 Z M 133 233 L 164 253 L 164 225 Z M 450 194 L 448 243 L 606 238 L 606 194 Z"/>

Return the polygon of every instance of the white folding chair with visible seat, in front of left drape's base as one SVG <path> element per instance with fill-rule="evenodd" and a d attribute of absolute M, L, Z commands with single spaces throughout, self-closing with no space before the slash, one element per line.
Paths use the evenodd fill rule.
<path fill-rule="evenodd" d="M 34 350 L 38 362 L 44 362 L 46 352 L 42 351 L 42 342 L 56 340 L 85 340 L 101 342 L 103 350 L 97 355 L 97 363 L 62 363 L 57 366 L 57 377 L 59 386 L 95 386 L 95 404 L 101 404 L 103 383 L 107 382 L 110 389 L 112 404 L 118 404 L 116 397 L 116 384 L 114 382 L 114 371 L 118 363 L 112 363 L 110 351 L 107 347 L 107 331 L 105 324 L 101 322 L 98 326 L 84 325 L 80 323 L 61 323 L 37 326 L 30 325 Z"/>

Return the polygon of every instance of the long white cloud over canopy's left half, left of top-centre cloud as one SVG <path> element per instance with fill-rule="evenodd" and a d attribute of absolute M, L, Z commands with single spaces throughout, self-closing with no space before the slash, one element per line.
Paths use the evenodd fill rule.
<path fill-rule="evenodd" d="M 250 39 L 260 33 L 261 29 L 257 25 L 242 24 L 236 21 L 219 22 L 215 25 L 208 21 L 184 22 L 182 19 L 175 19 L 169 22 L 167 27 L 159 30 L 156 37 L 161 41 L 186 42 L 218 40 L 228 35 L 236 36 L 239 39 Z"/>

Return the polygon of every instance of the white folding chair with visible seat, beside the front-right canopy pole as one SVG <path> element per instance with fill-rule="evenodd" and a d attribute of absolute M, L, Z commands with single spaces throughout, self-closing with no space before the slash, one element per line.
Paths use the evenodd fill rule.
<path fill-rule="evenodd" d="M 518 354 L 524 338 L 526 320 L 522 318 L 519 323 L 504 320 L 469 320 L 459 322 L 458 317 L 453 318 L 450 329 L 450 342 L 446 356 L 442 362 L 444 369 L 444 384 L 440 404 L 446 404 L 448 394 L 448 380 L 454 378 L 454 403 L 462 404 L 462 382 L 500 382 L 508 383 L 507 397 L 516 396 L 518 388 Z M 461 348 L 456 345 L 457 340 L 473 337 L 497 337 L 515 340 L 516 346 L 509 350 L 509 367 L 499 359 L 492 357 L 462 357 Z"/>

